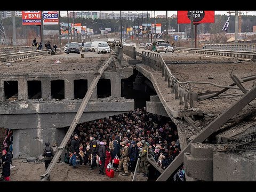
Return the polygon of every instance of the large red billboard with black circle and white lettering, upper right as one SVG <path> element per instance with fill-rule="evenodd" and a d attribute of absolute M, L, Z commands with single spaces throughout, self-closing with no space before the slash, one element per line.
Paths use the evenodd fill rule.
<path fill-rule="evenodd" d="M 214 11 L 178 11 L 178 24 L 191 23 L 190 17 L 193 12 L 193 23 L 214 23 Z"/>

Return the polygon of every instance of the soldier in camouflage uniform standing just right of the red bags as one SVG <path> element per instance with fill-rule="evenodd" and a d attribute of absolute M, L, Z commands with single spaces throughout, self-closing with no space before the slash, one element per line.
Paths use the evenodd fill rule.
<path fill-rule="evenodd" d="M 126 146 L 126 142 L 122 142 L 122 155 L 119 161 L 119 165 L 117 167 L 116 171 L 122 171 L 122 165 L 124 168 L 124 173 L 122 174 L 123 176 L 128 176 L 128 162 L 130 161 L 129 158 L 129 147 Z"/>

